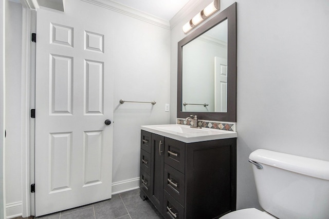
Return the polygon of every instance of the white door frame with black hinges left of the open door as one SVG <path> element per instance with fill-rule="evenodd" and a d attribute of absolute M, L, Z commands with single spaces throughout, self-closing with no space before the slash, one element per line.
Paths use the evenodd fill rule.
<path fill-rule="evenodd" d="M 36 32 L 36 9 L 33 0 L 22 0 L 22 67 L 21 67 L 21 154 L 22 154 L 22 217 L 34 215 L 34 134 L 35 122 L 30 110 L 35 107 L 35 43 L 31 33 Z"/>

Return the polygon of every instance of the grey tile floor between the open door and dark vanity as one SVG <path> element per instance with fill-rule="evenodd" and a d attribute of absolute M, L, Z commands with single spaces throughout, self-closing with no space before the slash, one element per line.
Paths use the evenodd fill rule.
<path fill-rule="evenodd" d="M 36 219 L 163 219 L 150 200 L 142 201 L 139 189 L 112 195 L 111 200 L 35 217 Z"/>

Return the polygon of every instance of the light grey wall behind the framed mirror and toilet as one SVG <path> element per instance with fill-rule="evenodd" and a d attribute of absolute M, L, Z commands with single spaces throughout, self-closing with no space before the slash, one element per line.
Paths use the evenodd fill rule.
<path fill-rule="evenodd" d="M 329 161 L 327 0 L 237 2 L 237 209 L 260 208 L 248 164 L 265 148 Z M 189 14 L 191 18 L 203 7 Z M 171 123 L 175 123 L 177 42 L 171 32 Z"/>

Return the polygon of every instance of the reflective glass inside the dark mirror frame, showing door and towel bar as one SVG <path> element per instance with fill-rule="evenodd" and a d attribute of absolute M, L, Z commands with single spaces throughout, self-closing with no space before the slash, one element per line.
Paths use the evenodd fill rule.
<path fill-rule="evenodd" d="M 182 111 L 227 112 L 227 19 L 182 47 Z"/>

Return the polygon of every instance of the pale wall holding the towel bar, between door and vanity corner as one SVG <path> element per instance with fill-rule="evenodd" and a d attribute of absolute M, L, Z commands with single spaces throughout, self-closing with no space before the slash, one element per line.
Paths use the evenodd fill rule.
<path fill-rule="evenodd" d="M 140 126 L 169 123 L 170 30 L 119 15 L 115 25 L 113 182 L 139 177 Z M 151 104 L 126 101 L 156 101 Z M 137 182 L 138 183 L 138 182 Z"/>

